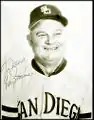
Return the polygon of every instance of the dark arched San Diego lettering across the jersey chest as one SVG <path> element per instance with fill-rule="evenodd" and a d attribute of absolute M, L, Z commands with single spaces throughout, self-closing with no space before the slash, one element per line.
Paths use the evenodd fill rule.
<path fill-rule="evenodd" d="M 48 98 L 52 100 L 52 104 L 49 108 L 48 108 L 48 104 L 49 104 Z M 34 111 L 36 115 L 39 114 L 38 98 L 34 98 L 34 103 L 32 102 L 32 98 L 28 99 L 27 102 L 28 102 L 29 113 L 26 111 L 25 103 L 23 101 L 18 101 L 20 118 L 22 118 L 22 116 L 24 116 L 25 118 L 30 117 L 30 116 L 32 117 L 33 116 L 32 110 Z M 65 104 L 67 104 L 67 106 Z M 79 112 L 80 112 L 80 107 L 78 107 L 75 103 L 71 104 L 69 100 L 66 100 L 60 97 L 55 97 L 53 94 L 49 92 L 45 92 L 44 105 L 45 107 L 44 107 L 42 114 L 50 114 L 53 110 L 55 110 L 56 115 L 60 115 L 65 118 L 69 117 L 70 119 L 77 119 Z M 67 112 L 67 114 L 65 113 L 65 111 Z"/>

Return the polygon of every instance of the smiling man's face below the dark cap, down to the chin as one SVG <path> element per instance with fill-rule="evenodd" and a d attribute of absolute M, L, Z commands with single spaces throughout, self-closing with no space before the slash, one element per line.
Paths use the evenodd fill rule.
<path fill-rule="evenodd" d="M 63 58 L 64 26 L 56 20 L 40 20 L 30 31 L 29 43 L 35 58 L 42 63 L 52 64 Z"/>

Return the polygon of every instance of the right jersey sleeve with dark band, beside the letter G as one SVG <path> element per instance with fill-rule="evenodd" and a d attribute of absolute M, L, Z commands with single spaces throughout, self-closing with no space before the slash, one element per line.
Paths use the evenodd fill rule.
<path fill-rule="evenodd" d="M 83 96 L 81 100 L 81 109 L 79 118 L 90 119 L 92 118 L 92 84 L 86 83 L 83 85 Z"/>

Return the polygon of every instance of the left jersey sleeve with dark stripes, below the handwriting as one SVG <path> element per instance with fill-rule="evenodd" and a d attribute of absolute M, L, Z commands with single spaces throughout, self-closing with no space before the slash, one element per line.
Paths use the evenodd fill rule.
<path fill-rule="evenodd" d="M 7 59 L 1 65 L 1 109 L 2 120 L 18 119 L 17 95 Z"/>

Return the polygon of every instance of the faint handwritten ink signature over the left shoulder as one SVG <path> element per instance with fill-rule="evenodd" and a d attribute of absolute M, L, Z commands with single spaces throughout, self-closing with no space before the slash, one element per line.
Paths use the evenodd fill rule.
<path fill-rule="evenodd" d="M 1 67 L 5 88 L 15 85 L 17 80 L 31 76 L 33 73 L 28 72 L 28 66 L 25 66 L 25 58 L 14 61 L 9 58 Z M 21 67 L 22 66 L 22 67 Z"/>

